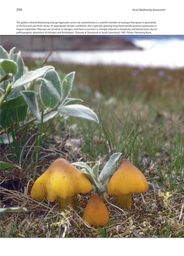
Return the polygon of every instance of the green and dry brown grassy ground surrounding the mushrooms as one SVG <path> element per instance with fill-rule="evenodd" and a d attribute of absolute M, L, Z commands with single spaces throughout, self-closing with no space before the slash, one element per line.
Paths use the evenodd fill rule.
<path fill-rule="evenodd" d="M 71 97 L 82 98 L 100 122 L 74 117 L 56 117 L 43 126 L 15 122 L 14 143 L 3 146 L 1 160 L 18 162 L 22 170 L 2 172 L 1 200 L 6 206 L 27 202 L 28 213 L 2 215 L 1 236 L 183 237 L 184 70 L 162 69 L 160 76 L 157 68 L 54 66 L 60 77 L 76 71 Z M 78 196 L 78 211 L 66 215 L 54 203 L 31 200 L 34 174 L 38 177 L 52 160 L 64 157 L 92 165 L 100 160 L 102 168 L 115 152 L 141 169 L 149 188 L 142 196 L 134 194 L 132 211 L 121 210 L 115 197 L 104 193 L 110 214 L 106 227 L 83 223 L 80 209 L 90 195 Z M 55 226 L 61 218 L 66 222 Z"/>

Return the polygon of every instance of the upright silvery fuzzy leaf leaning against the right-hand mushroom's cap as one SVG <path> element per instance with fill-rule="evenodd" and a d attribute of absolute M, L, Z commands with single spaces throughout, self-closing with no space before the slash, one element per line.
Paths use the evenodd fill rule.
<path fill-rule="evenodd" d="M 116 162 L 120 158 L 120 155 L 122 155 L 122 153 L 115 153 L 111 155 L 111 158 L 108 160 L 108 162 L 102 169 L 101 173 L 99 174 L 99 180 L 101 182 L 106 181 L 106 179 L 108 179 L 108 177 L 110 177 L 113 174 Z"/>

